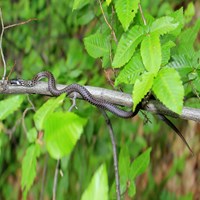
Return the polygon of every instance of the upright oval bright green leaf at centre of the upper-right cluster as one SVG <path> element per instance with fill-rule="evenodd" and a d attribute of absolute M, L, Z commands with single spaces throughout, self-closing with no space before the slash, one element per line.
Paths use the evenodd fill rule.
<path fill-rule="evenodd" d="M 146 70 L 156 75 L 162 60 L 159 35 L 146 35 L 141 43 L 141 56 Z"/>

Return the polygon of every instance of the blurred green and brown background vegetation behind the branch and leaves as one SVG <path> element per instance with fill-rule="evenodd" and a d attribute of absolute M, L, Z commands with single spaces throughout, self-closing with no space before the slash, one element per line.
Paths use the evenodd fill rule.
<path fill-rule="evenodd" d="M 109 66 L 102 68 L 100 59 L 90 57 L 84 49 L 83 38 L 105 26 L 98 1 L 85 0 L 75 4 L 70 0 L 1 0 L 5 26 L 34 19 L 25 25 L 5 30 L 3 51 L 10 78 L 31 79 L 40 71 L 51 71 L 63 84 L 80 83 L 113 89 L 114 78 Z M 163 16 L 180 7 L 187 8 L 192 1 L 144 0 L 142 7 L 155 17 Z M 200 2 L 193 1 L 195 15 L 200 17 Z M 200 35 L 197 47 L 200 45 Z M 0 62 L 0 65 L 3 64 Z M 1 74 L 3 68 L 0 68 Z M 118 88 L 117 88 L 118 89 Z M 129 92 L 129 88 L 125 88 Z M 5 99 L 7 95 L 1 95 Z M 27 98 L 25 96 L 25 98 Z M 30 95 L 35 108 L 48 98 Z M 67 99 L 63 109 L 70 106 Z M 21 124 L 27 100 L 14 115 L 0 122 L 0 199 L 21 199 L 21 163 L 28 142 Z M 114 181 L 112 147 L 103 117 L 98 110 L 83 101 L 77 101 L 80 116 L 88 118 L 84 134 L 73 153 L 61 161 L 64 173 L 58 181 L 57 199 L 80 199 L 92 174 L 106 162 L 109 185 Z M 25 117 L 26 128 L 33 126 L 33 114 Z M 135 199 L 198 199 L 200 196 L 200 125 L 192 121 L 174 121 L 195 152 L 192 157 L 179 137 L 165 124 L 148 114 L 144 123 L 142 114 L 130 120 L 110 115 L 118 150 L 126 145 L 131 158 L 151 146 L 151 164 L 146 173 L 136 180 Z M 38 160 L 37 176 L 28 199 L 51 199 L 56 161 L 47 154 Z M 42 179 L 45 173 L 45 180 Z M 44 191 L 42 191 L 42 185 Z M 126 198 L 128 199 L 128 197 Z"/>

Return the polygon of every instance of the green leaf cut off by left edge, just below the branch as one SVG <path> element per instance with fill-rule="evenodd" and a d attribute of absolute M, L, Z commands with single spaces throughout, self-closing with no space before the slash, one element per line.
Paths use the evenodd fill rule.
<path fill-rule="evenodd" d="M 6 119 L 10 114 L 14 113 L 22 104 L 23 95 L 15 95 L 0 101 L 0 120 Z"/>

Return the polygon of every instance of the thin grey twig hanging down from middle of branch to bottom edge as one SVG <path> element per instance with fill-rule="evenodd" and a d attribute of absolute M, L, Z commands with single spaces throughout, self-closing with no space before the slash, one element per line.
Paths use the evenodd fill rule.
<path fill-rule="evenodd" d="M 117 148 L 116 148 L 116 142 L 115 142 L 115 137 L 114 137 L 114 131 L 112 128 L 112 124 L 111 121 L 107 115 L 107 113 L 105 112 L 105 110 L 100 109 L 106 124 L 108 126 L 108 130 L 109 130 L 109 135 L 110 135 L 110 139 L 111 139 L 111 143 L 112 143 L 112 150 L 113 150 L 113 160 L 114 160 L 114 171 L 115 171 L 115 184 L 116 184 L 116 194 L 117 194 L 117 200 L 120 200 L 120 178 L 119 178 L 119 170 L 118 170 L 118 160 L 117 160 Z"/>

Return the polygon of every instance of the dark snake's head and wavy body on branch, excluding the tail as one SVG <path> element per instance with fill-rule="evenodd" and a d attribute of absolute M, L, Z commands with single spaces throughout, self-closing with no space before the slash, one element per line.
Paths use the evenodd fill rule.
<path fill-rule="evenodd" d="M 25 87 L 33 87 L 38 83 L 38 81 L 40 81 L 43 78 L 48 79 L 48 89 L 53 96 L 59 96 L 63 93 L 66 93 L 67 95 L 69 95 L 72 92 L 77 92 L 82 96 L 84 100 L 88 101 L 90 104 L 93 104 L 94 106 L 98 108 L 110 111 L 114 115 L 118 117 L 122 117 L 122 118 L 134 117 L 140 110 L 140 104 L 136 107 L 135 111 L 133 112 L 133 111 L 122 110 L 108 101 L 105 101 L 102 99 L 101 100 L 96 99 L 84 86 L 81 86 L 79 84 L 71 84 L 71 85 L 66 86 L 63 89 L 58 90 L 56 88 L 55 78 L 53 74 L 49 71 L 39 72 L 33 77 L 32 80 L 20 80 L 20 79 L 10 80 L 10 84 L 21 85 Z"/>

